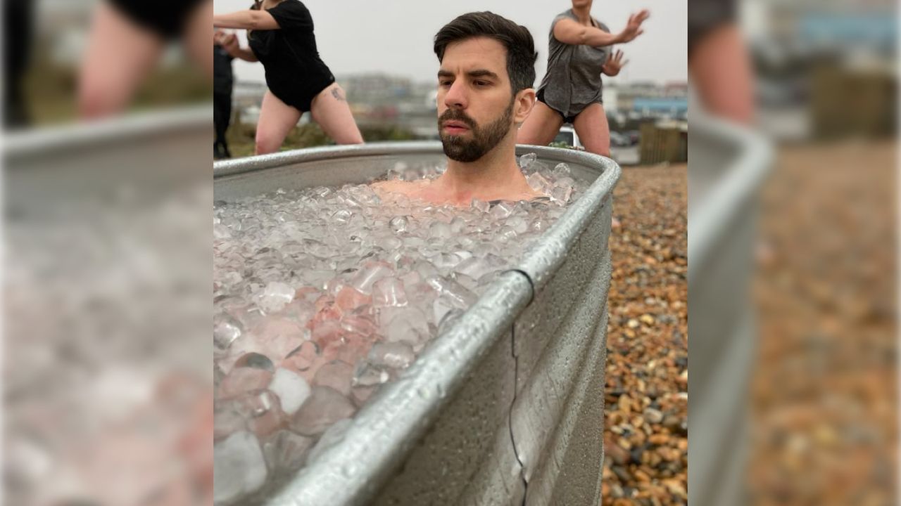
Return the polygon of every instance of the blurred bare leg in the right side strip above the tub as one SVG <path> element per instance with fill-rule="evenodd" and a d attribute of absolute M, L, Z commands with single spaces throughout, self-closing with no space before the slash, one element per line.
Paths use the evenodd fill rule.
<path fill-rule="evenodd" d="M 751 58 L 737 26 L 725 24 L 697 42 L 688 70 L 705 109 L 735 122 L 753 122 Z"/>

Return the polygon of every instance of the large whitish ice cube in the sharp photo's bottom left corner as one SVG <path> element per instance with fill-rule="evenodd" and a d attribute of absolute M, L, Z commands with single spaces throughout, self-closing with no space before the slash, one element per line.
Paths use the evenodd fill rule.
<path fill-rule="evenodd" d="M 213 501 L 234 501 L 266 483 L 266 459 L 252 433 L 235 432 L 213 447 Z"/>

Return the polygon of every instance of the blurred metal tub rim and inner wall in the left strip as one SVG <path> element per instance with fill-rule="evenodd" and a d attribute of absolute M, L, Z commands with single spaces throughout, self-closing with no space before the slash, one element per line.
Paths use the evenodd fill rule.
<path fill-rule="evenodd" d="M 101 203 L 122 188 L 134 206 L 148 205 L 186 185 L 208 185 L 209 106 L 142 113 L 6 136 L 5 208 L 44 214 L 47 203 Z M 160 163 L 162 162 L 162 163 Z M 212 237 L 212 234 L 211 234 Z"/>

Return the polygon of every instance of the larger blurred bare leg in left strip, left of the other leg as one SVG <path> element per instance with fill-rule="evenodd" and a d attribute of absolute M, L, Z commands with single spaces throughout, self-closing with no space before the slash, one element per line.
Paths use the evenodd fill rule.
<path fill-rule="evenodd" d="M 159 61 L 164 43 L 114 7 L 97 5 L 78 77 L 78 116 L 95 119 L 122 113 Z"/>

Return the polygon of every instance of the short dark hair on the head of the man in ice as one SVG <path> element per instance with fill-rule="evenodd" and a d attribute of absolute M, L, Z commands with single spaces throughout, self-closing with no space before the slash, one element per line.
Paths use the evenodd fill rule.
<path fill-rule="evenodd" d="M 507 50 L 507 74 L 514 95 L 535 84 L 535 42 L 532 33 L 503 16 L 491 12 L 468 13 L 445 24 L 435 34 L 435 54 L 444 60 L 444 50 L 451 42 L 465 41 L 473 37 L 488 37 L 504 44 Z"/>

